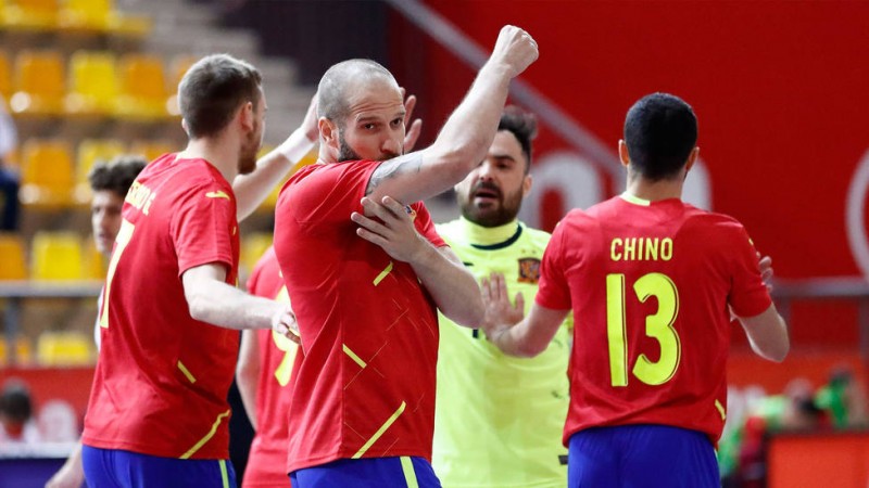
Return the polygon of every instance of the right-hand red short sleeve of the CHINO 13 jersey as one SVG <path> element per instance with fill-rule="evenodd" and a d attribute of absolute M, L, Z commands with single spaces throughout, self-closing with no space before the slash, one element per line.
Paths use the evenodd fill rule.
<path fill-rule="evenodd" d="M 731 290 L 728 301 L 739 317 L 755 317 L 763 313 L 772 299 L 760 278 L 757 252 L 748 233 L 742 226 L 734 230 L 730 246 L 732 255 Z"/>

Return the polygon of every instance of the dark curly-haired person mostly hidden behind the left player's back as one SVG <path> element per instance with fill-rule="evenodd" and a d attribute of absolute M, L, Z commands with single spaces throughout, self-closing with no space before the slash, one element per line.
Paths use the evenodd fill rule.
<path fill-rule="evenodd" d="M 117 156 L 110 163 L 97 163 L 88 174 L 88 183 L 93 196 L 90 200 L 90 224 L 97 251 L 108 259 L 112 254 L 117 232 L 121 230 L 121 208 L 133 181 L 148 162 L 141 156 Z M 102 293 L 99 304 L 102 304 Z M 97 307 L 101 308 L 100 306 Z M 100 328 L 95 326 L 95 342 L 100 345 Z M 46 488 L 78 488 L 85 481 L 81 467 L 81 444 L 78 444 L 70 458 Z"/>

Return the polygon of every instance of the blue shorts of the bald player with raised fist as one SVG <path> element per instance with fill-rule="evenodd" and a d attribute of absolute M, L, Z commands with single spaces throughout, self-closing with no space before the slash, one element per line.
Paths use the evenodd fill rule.
<path fill-rule="evenodd" d="M 341 459 L 290 473 L 292 488 L 440 488 L 423 458 Z"/>

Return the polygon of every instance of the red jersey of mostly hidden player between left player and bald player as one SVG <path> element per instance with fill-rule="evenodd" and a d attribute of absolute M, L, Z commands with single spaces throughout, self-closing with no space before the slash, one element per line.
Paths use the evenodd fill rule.
<path fill-rule="evenodd" d="M 275 248 L 260 258 L 248 281 L 253 295 L 287 301 L 287 288 L 280 275 Z M 256 436 L 251 444 L 244 488 L 286 487 L 287 477 L 287 412 L 290 409 L 293 363 L 299 346 L 270 330 L 256 331 L 260 350 L 260 377 L 256 382 Z"/>

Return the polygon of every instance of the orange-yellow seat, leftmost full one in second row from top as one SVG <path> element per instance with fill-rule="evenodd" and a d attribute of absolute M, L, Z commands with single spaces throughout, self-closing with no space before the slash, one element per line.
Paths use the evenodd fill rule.
<path fill-rule="evenodd" d="M 15 92 L 9 100 L 16 114 L 59 115 L 65 93 L 63 57 L 56 51 L 23 51 L 15 57 Z"/>

